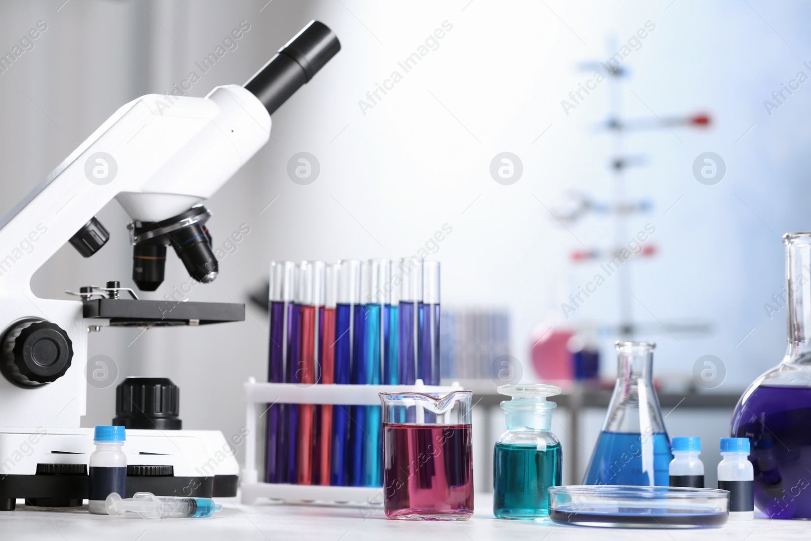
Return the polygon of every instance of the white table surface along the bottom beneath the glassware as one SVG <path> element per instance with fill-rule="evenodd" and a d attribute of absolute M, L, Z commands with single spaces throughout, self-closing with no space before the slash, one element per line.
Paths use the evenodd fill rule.
<path fill-rule="evenodd" d="M 496 520 L 491 496 L 476 495 L 474 517 L 465 522 L 410 522 L 388 520 L 382 509 L 309 505 L 241 505 L 238 499 L 217 499 L 223 505 L 210 518 L 146 520 L 127 513 L 109 517 L 91 515 L 84 509 L 43 510 L 18 505 L 16 511 L 0 512 L 0 539 L 54 539 L 58 541 L 199 541 L 242 539 L 257 541 L 563 541 L 568 539 L 664 539 L 688 541 L 763 541 L 765 539 L 811 539 L 811 522 L 727 522 L 710 530 L 618 530 L 555 526 L 551 522 Z M 370 514 L 371 513 L 371 514 Z"/>

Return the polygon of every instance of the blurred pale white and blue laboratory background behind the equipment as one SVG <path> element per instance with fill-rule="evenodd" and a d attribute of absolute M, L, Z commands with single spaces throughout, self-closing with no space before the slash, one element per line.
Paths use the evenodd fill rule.
<path fill-rule="evenodd" d="M 245 322 L 93 333 L 89 357 L 118 374 L 88 387 L 84 426 L 109 423 L 124 377 L 167 376 L 184 427 L 237 433 L 242 383 L 267 376 L 271 260 L 424 252 L 443 269 L 446 379 L 490 396 L 505 380 L 567 390 L 553 425 L 577 450 L 564 483 L 580 481 L 605 415 L 594 401 L 573 422 L 572 405 L 610 394 L 613 342 L 637 339 L 657 343 L 668 432 L 703 436 L 714 486 L 736 397 L 783 355 L 780 236 L 811 227 L 809 16 L 804 2 L 763 0 L 2 2 L 0 53 L 46 28 L 0 72 L 0 213 L 127 101 L 192 71 L 189 96 L 243 84 L 311 19 L 341 40 L 206 204 L 225 255 L 217 281 L 187 298 L 247 303 Z M 315 182 L 288 175 L 298 152 L 318 161 Z M 85 260 L 63 247 L 34 277 L 37 295 L 134 287 L 127 214 L 111 202 L 99 218 L 105 249 Z M 169 257 L 161 288 L 142 296 L 188 283 Z M 496 405 L 476 412 L 482 489 L 504 429 Z"/>

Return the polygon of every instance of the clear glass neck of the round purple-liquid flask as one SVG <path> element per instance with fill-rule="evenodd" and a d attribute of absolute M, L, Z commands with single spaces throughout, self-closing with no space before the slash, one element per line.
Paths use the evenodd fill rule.
<path fill-rule="evenodd" d="M 811 236 L 786 235 L 787 362 L 811 364 Z"/>

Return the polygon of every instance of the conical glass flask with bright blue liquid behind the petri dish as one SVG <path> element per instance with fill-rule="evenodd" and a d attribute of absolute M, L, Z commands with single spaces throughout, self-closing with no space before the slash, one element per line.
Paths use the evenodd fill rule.
<path fill-rule="evenodd" d="M 653 342 L 616 342 L 617 378 L 586 485 L 667 487 L 670 439 L 653 380 Z"/>

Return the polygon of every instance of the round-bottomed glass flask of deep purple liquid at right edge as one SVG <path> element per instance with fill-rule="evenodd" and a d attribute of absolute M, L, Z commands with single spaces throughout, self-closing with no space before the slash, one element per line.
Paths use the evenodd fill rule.
<path fill-rule="evenodd" d="M 783 243 L 786 354 L 740 397 L 730 432 L 749 438 L 755 507 L 770 518 L 811 518 L 811 232 L 784 234 Z"/>

